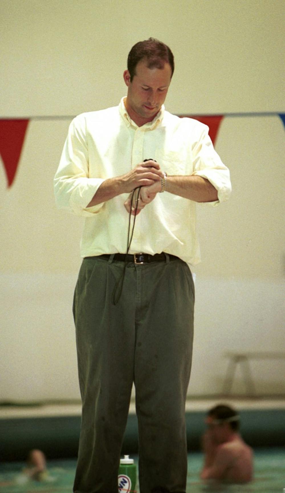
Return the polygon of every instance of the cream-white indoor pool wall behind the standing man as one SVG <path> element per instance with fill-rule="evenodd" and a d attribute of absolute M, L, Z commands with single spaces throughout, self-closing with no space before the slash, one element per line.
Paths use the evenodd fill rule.
<path fill-rule="evenodd" d="M 79 398 L 72 294 L 81 219 L 54 205 L 71 118 L 117 105 L 131 46 L 172 48 L 167 109 L 228 114 L 215 148 L 230 202 L 198 207 L 190 394 L 221 391 L 223 353 L 280 351 L 284 332 L 284 2 L 1 0 L 1 117 L 31 117 L 8 189 L 0 165 L 0 400 Z M 234 116 L 232 113 L 273 113 Z M 260 392 L 284 393 L 284 363 L 256 361 Z M 241 374 L 234 390 L 244 391 Z"/>

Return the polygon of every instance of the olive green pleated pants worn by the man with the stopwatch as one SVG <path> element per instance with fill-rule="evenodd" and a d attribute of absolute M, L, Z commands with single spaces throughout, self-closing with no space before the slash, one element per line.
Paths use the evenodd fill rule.
<path fill-rule="evenodd" d="M 141 493 L 185 492 L 185 399 L 190 378 L 194 284 L 181 260 L 83 259 L 74 293 L 82 419 L 76 493 L 117 493 L 132 384 L 136 387 Z"/>

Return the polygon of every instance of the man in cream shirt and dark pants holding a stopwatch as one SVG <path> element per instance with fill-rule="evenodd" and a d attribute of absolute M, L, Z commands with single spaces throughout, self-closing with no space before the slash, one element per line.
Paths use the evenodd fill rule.
<path fill-rule="evenodd" d="M 55 176 L 58 207 L 85 216 L 73 302 L 82 397 L 76 493 L 117 493 L 133 382 L 140 491 L 185 492 L 195 203 L 227 200 L 231 186 L 208 127 L 165 110 L 173 71 L 168 46 L 136 43 L 123 74 L 127 97 L 71 122 Z"/>

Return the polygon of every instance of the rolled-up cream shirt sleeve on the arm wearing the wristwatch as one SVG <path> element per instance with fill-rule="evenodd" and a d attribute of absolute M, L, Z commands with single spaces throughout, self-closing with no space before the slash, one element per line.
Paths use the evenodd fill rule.
<path fill-rule="evenodd" d="M 217 190 L 218 200 L 208 204 L 216 206 L 230 197 L 232 191 L 230 172 L 214 150 L 213 143 L 209 137 L 209 127 L 207 125 L 203 126 L 204 130 L 200 138 L 195 141 L 192 149 L 194 169 L 192 175 L 202 176 L 212 183 Z"/>

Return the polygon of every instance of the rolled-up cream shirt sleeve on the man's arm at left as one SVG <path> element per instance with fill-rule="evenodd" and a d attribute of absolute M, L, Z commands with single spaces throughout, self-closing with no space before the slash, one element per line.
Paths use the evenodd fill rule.
<path fill-rule="evenodd" d="M 104 178 L 89 177 L 85 118 L 79 115 L 70 124 L 60 163 L 54 177 L 54 193 L 59 209 L 80 216 L 92 216 L 103 203 L 88 207 Z"/>

